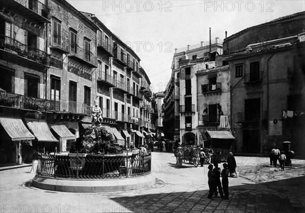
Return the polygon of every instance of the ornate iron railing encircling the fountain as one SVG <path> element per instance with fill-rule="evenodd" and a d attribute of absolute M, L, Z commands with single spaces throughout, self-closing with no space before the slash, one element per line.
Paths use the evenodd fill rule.
<path fill-rule="evenodd" d="M 118 179 L 151 173 L 150 153 L 86 156 L 42 154 L 39 161 L 39 175 L 65 179 Z"/>

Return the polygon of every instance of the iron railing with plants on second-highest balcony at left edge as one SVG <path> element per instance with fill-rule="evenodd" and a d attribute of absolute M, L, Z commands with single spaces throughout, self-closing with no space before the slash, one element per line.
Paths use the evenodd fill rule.
<path fill-rule="evenodd" d="M 22 44 L 3 34 L 0 34 L 0 49 L 46 66 L 50 63 L 50 56 L 46 52 Z"/>

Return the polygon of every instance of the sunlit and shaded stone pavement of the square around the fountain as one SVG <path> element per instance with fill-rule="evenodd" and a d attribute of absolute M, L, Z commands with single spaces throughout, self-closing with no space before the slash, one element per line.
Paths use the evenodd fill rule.
<path fill-rule="evenodd" d="M 207 165 L 179 167 L 172 153 L 152 155 L 157 184 L 128 192 L 52 192 L 31 186 L 31 167 L 0 171 L 0 212 L 305 212 L 304 160 L 282 172 L 268 158 L 235 157 L 229 200 L 209 200 Z"/>

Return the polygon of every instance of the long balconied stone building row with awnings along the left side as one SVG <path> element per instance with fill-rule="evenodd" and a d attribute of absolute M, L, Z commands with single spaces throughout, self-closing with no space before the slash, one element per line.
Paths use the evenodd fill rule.
<path fill-rule="evenodd" d="M 132 49 L 64 0 L 0 1 L 0 8 L 1 163 L 22 163 L 36 148 L 69 151 L 95 100 L 120 145 L 144 142 L 139 87 L 149 79 Z"/>

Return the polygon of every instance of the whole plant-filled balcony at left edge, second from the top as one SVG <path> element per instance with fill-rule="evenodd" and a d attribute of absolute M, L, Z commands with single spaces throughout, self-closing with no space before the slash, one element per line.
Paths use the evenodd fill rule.
<path fill-rule="evenodd" d="M 50 55 L 37 48 L 27 46 L 21 42 L 0 34 L 0 53 L 8 60 L 18 60 L 18 64 L 24 66 L 37 66 L 50 68 Z"/>

